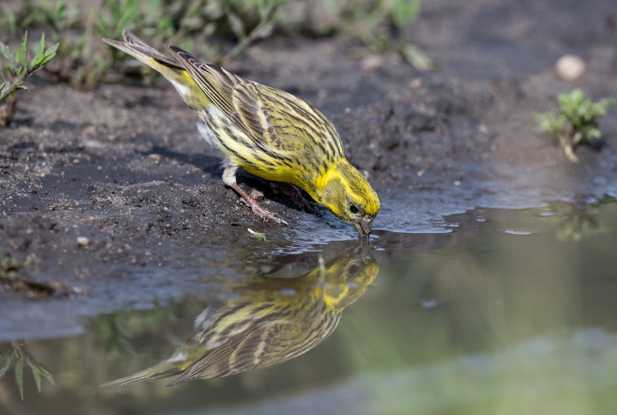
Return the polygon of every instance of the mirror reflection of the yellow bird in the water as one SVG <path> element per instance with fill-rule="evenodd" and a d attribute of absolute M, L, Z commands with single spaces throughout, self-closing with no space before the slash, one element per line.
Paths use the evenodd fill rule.
<path fill-rule="evenodd" d="M 341 312 L 373 282 L 379 266 L 355 248 L 292 279 L 252 277 L 233 283 L 234 298 L 210 304 L 170 358 L 110 384 L 176 376 L 166 386 L 233 375 L 299 356 L 336 329 Z"/>

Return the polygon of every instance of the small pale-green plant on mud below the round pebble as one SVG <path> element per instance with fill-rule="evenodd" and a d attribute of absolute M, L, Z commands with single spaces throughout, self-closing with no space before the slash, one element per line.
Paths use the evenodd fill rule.
<path fill-rule="evenodd" d="M 534 118 L 540 131 L 559 141 L 569 161 L 578 162 L 574 147 L 582 143 L 597 145 L 602 138 L 598 119 L 617 101 L 605 98 L 598 102 L 585 97 L 579 88 L 557 96 L 558 108 L 548 112 L 535 112 Z"/>

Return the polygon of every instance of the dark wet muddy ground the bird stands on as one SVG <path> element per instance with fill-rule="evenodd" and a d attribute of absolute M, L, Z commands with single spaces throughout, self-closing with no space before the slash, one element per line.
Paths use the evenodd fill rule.
<path fill-rule="evenodd" d="M 573 87 L 617 96 L 614 6 L 424 2 L 412 39 L 439 63 L 434 73 L 337 37 L 275 37 L 228 67 L 333 121 L 381 198 L 379 245 L 384 231 L 439 230 L 446 215 L 479 206 L 617 196 L 617 109 L 600 122 L 602 150 L 578 148 L 579 164 L 532 119 Z M 587 63 L 576 82 L 555 75 L 563 54 Z M 180 298 L 204 275 L 242 274 L 255 258 L 355 238 L 331 214 L 299 211 L 241 174 L 290 227 L 254 217 L 223 186 L 220 157 L 164 80 L 81 92 L 38 78 L 30 89 L 0 130 L 0 249 L 28 261 L 20 274 L 54 293 L 33 301 L 31 287 L 0 290 L 0 338 L 79 331 L 86 316 Z"/>

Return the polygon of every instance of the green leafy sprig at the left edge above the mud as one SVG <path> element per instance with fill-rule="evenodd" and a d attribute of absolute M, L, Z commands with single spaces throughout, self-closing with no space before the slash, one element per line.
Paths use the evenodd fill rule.
<path fill-rule="evenodd" d="M 45 48 L 45 34 L 43 33 L 38 47 L 35 48 L 34 56 L 28 62 L 27 31 L 23 34 L 22 43 L 15 52 L 11 52 L 6 44 L 0 43 L 0 54 L 2 55 L 0 57 L 0 126 L 5 127 L 10 123 L 17 102 L 17 91 L 28 90 L 23 85 L 24 80 L 51 61 L 56 55 L 57 48 L 57 43 L 51 48 Z M 2 57 L 7 62 L 3 62 Z"/>

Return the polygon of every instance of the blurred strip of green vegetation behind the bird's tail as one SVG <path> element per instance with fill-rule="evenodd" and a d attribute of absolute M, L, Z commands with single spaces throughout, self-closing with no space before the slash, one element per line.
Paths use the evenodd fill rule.
<path fill-rule="evenodd" d="M 421 0 L 3 0 L 0 41 L 19 44 L 25 30 L 48 46 L 59 43 L 44 67 L 54 82 L 88 90 L 126 75 L 153 75 L 101 38 L 129 29 L 155 48 L 177 44 L 205 60 L 225 64 L 256 40 L 287 36 L 344 36 L 376 52 L 395 49 L 410 63 L 430 69 L 409 41 L 408 27 Z M 1 59 L 1 57 L 0 57 Z M 1 83 L 0 83 L 1 85 Z"/>

